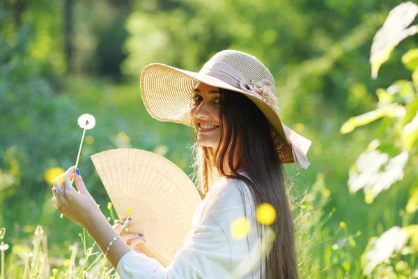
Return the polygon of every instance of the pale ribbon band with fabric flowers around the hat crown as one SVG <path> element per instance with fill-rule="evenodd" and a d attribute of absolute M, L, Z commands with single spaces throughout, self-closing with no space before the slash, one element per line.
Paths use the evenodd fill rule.
<path fill-rule="evenodd" d="M 249 80 L 239 70 L 223 61 L 208 61 L 199 73 L 216 77 L 237 89 L 251 93 L 252 96 L 263 100 L 274 112 L 279 112 L 277 97 L 274 95 L 274 86 L 270 80 Z"/>

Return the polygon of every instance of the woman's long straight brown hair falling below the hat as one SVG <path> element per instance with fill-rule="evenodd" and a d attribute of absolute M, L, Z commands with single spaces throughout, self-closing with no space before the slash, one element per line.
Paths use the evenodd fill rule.
<path fill-rule="evenodd" d="M 284 166 L 270 136 L 271 126 L 261 110 L 243 94 L 226 89 L 219 92 L 220 144 L 216 151 L 195 144 L 201 193 L 204 197 L 209 186 L 223 176 L 246 183 L 256 207 L 265 202 L 274 206 L 277 217 L 269 227 L 275 238 L 265 261 L 265 278 L 299 278 L 290 197 Z M 234 166 L 235 149 L 240 149 L 241 156 Z M 226 173 L 225 164 L 231 172 Z M 246 172 L 249 178 L 240 172 Z"/>

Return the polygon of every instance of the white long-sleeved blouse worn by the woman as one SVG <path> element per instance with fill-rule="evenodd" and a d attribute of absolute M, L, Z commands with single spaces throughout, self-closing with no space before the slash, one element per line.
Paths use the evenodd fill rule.
<path fill-rule="evenodd" d="M 265 261 L 260 265 L 258 257 L 254 200 L 249 197 L 245 183 L 222 178 L 194 211 L 192 230 L 169 266 L 131 251 L 118 262 L 118 275 L 121 279 L 260 278 L 261 266 L 264 278 Z M 250 225 L 248 242 L 247 237 L 235 239 L 231 235 L 231 224 L 246 216 L 244 209 Z"/>

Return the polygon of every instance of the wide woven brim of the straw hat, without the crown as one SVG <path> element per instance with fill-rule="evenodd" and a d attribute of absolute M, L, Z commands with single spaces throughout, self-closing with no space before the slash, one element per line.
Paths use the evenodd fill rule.
<path fill-rule="evenodd" d="M 141 96 L 146 110 L 157 120 L 192 126 L 190 110 L 193 105 L 192 94 L 196 81 L 247 96 L 270 122 L 272 140 L 281 163 L 295 163 L 297 154 L 294 154 L 295 150 L 292 149 L 293 142 L 288 139 L 290 133 L 295 133 L 281 123 L 277 112 L 261 98 L 219 80 L 217 77 L 178 69 L 162 63 L 151 63 L 141 73 Z M 285 130 L 287 130 L 287 135 Z"/>

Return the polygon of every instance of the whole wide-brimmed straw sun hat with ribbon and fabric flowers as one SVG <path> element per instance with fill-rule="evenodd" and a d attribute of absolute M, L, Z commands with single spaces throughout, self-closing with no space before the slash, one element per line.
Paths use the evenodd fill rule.
<path fill-rule="evenodd" d="M 192 126 L 190 110 L 196 81 L 247 96 L 270 121 L 272 141 L 281 163 L 295 163 L 297 169 L 309 166 L 306 153 L 311 141 L 281 123 L 274 96 L 274 77 L 261 61 L 244 52 L 218 52 L 199 73 L 162 63 L 146 66 L 141 73 L 141 95 L 146 110 L 160 121 Z"/>

